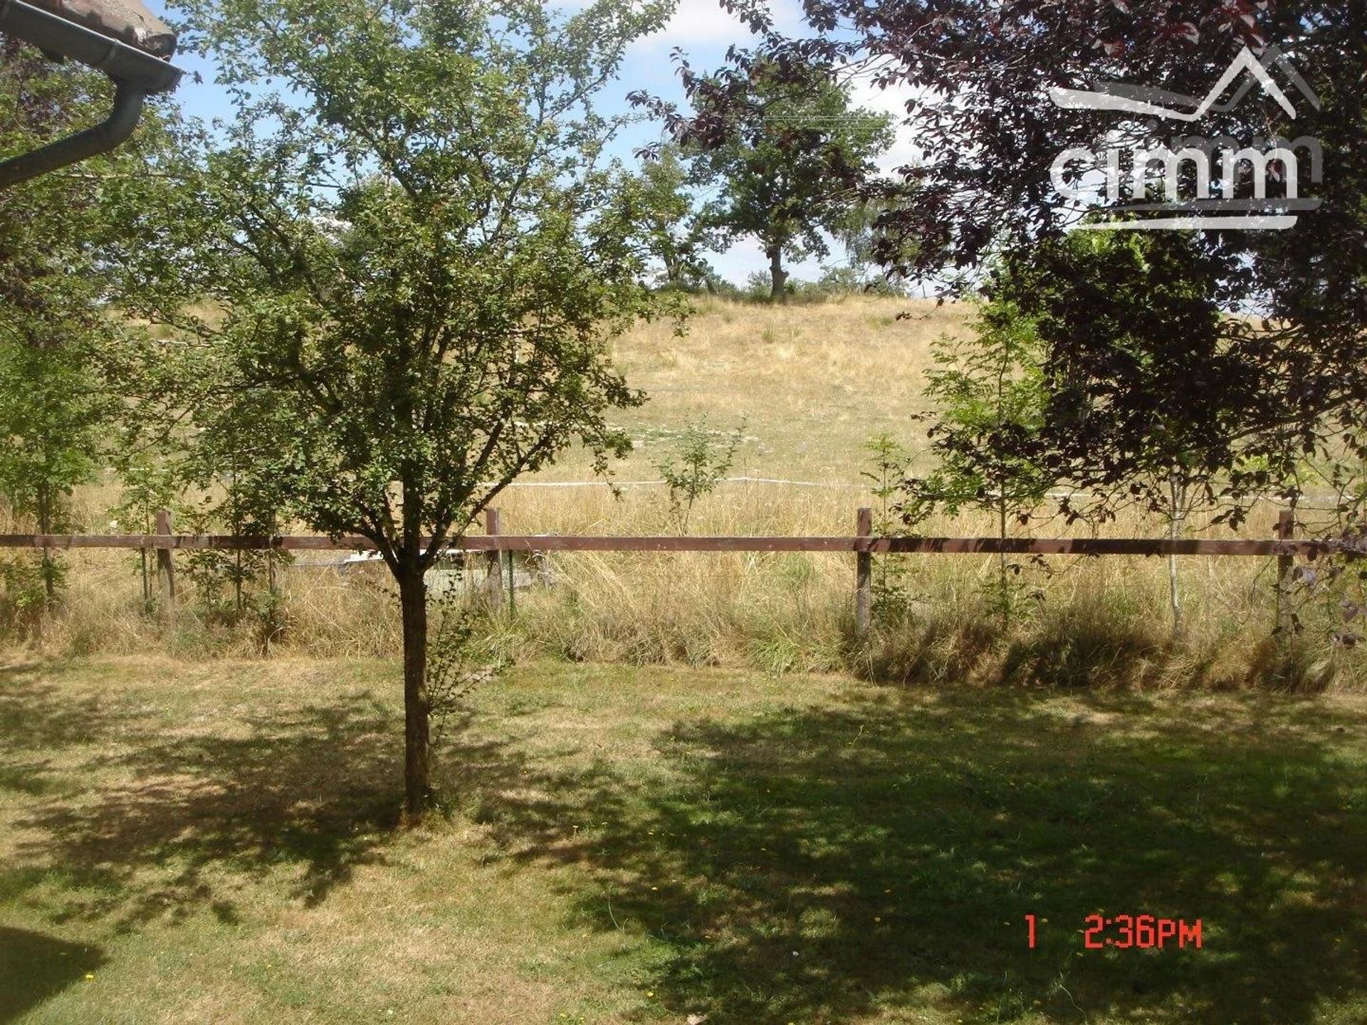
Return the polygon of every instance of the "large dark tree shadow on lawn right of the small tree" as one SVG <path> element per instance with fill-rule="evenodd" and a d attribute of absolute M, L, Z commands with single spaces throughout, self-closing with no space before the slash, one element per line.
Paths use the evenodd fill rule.
<path fill-rule="evenodd" d="M 1170 701 L 882 692 L 678 723 L 664 784 L 597 764 L 487 793 L 483 817 L 514 857 L 585 866 L 582 922 L 648 938 L 642 985 L 709 1025 L 1367 1007 L 1362 761 L 1311 704 Z M 1200 918 L 1204 946 L 1084 950 L 1095 912 Z"/>

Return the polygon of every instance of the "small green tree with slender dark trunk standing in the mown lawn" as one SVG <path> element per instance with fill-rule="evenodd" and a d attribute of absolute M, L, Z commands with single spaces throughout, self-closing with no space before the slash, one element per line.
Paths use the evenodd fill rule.
<path fill-rule="evenodd" d="M 236 485 L 392 573 L 410 821 L 432 793 L 427 569 L 519 474 L 627 447 L 606 414 L 640 396 L 607 343 L 664 301 L 592 100 L 666 7 L 187 4 L 236 119 L 148 213 L 126 298 L 190 354 L 175 405 Z"/>

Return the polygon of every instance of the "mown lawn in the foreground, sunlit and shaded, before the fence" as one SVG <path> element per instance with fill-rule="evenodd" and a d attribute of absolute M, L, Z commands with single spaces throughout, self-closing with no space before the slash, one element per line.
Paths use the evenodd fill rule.
<path fill-rule="evenodd" d="M 0 670 L 0 1021 L 1367 1021 L 1363 697 L 539 664 L 402 834 L 394 675 Z"/>

